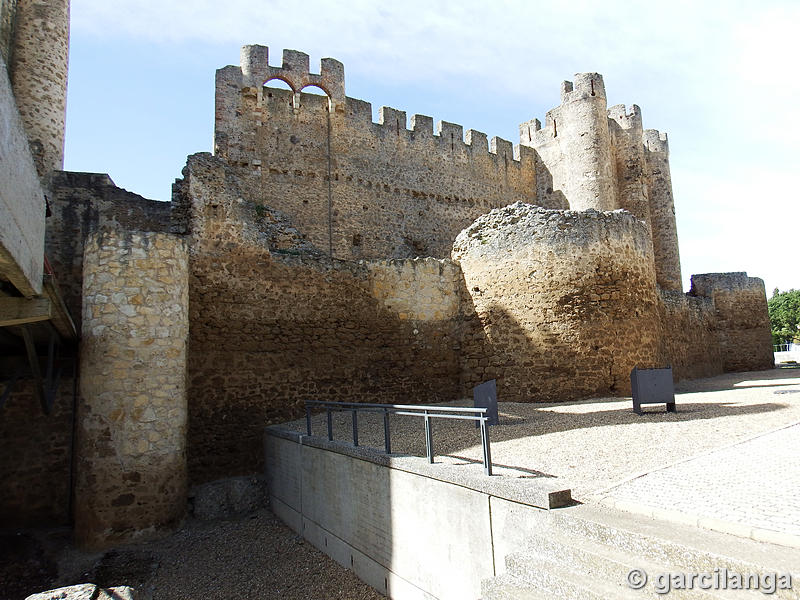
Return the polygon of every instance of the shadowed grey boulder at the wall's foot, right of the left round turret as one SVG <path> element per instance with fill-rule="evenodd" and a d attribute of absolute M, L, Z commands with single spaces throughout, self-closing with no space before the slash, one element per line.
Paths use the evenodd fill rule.
<path fill-rule="evenodd" d="M 193 514 L 204 521 L 246 515 L 266 506 L 266 483 L 260 477 L 230 477 L 194 487 Z"/>

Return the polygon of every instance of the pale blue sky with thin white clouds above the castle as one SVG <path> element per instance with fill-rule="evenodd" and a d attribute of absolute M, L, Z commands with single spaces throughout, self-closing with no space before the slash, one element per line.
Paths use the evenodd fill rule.
<path fill-rule="evenodd" d="M 563 4 L 563 5 L 562 5 Z M 214 71 L 248 43 L 345 65 L 348 96 L 489 136 L 597 71 L 670 139 L 684 286 L 747 271 L 800 288 L 797 2 L 72 0 L 65 168 L 169 200 L 211 151 Z"/>

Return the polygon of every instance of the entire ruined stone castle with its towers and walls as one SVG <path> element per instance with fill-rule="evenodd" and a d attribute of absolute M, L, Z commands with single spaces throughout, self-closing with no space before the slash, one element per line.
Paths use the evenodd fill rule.
<path fill-rule="evenodd" d="M 68 0 L 1 6 L 6 524 L 74 519 L 93 547 L 169 530 L 189 486 L 258 472 L 263 427 L 308 398 L 494 378 L 554 401 L 626 394 L 634 366 L 773 365 L 761 280 L 683 294 L 666 135 L 599 74 L 513 145 L 373 123 L 340 62 L 245 46 L 217 71 L 214 153 L 163 203 L 61 170 Z"/>

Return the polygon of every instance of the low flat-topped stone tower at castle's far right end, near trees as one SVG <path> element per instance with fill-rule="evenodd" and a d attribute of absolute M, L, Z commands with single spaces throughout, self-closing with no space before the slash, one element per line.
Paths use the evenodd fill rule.
<path fill-rule="evenodd" d="M 725 371 L 775 366 L 763 280 L 743 272 L 692 275 L 689 294 L 714 302 L 717 343 Z"/>

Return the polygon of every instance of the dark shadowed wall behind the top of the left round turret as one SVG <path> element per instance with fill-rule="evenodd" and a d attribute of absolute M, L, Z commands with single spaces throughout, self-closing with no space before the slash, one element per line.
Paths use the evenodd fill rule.
<path fill-rule="evenodd" d="M 104 227 L 118 231 L 161 231 L 170 228 L 169 202 L 148 200 L 118 188 L 105 173 L 56 171 L 47 219 L 45 253 L 58 278 L 64 303 L 81 328 L 83 250 L 87 236 Z"/>

